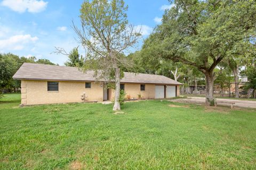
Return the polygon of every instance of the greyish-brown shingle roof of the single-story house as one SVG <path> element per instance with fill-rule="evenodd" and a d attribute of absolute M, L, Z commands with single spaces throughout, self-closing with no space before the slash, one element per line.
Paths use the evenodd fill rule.
<path fill-rule="evenodd" d="M 13 75 L 13 79 L 20 80 L 60 80 L 60 81 L 96 81 L 93 71 L 82 72 L 77 67 L 24 63 Z M 124 72 L 121 82 L 126 83 L 153 83 L 177 84 L 163 75 Z"/>

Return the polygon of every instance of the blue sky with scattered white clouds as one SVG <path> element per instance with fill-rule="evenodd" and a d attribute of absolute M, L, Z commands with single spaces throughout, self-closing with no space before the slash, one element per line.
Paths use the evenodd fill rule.
<path fill-rule="evenodd" d="M 71 28 L 72 21 L 80 25 L 79 9 L 83 0 L 0 0 L 0 53 L 46 58 L 63 65 L 67 56 L 52 54 L 54 47 L 69 52 L 79 44 Z M 161 23 L 167 0 L 125 0 L 129 6 L 128 20 L 141 27 L 142 38 L 147 38 Z M 83 53 L 83 51 L 81 51 Z"/>

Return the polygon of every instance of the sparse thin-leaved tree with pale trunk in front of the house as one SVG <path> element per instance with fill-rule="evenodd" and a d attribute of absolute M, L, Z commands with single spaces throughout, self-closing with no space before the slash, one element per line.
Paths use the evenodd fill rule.
<path fill-rule="evenodd" d="M 123 0 L 86 0 L 80 10 L 81 29 L 73 23 L 80 43 L 87 50 L 84 70 L 93 69 L 96 78 L 107 82 L 111 80 L 111 72 L 115 73 L 114 111 L 121 109 L 120 68 L 131 66 L 123 53 L 140 37 L 127 21 L 127 8 Z"/>

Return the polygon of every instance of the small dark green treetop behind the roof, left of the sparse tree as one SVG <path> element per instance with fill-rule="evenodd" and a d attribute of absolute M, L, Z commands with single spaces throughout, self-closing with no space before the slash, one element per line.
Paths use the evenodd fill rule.
<path fill-rule="evenodd" d="M 64 63 L 70 67 L 82 67 L 84 65 L 84 57 L 79 55 L 78 47 L 73 48 L 68 54 L 68 61 Z"/>

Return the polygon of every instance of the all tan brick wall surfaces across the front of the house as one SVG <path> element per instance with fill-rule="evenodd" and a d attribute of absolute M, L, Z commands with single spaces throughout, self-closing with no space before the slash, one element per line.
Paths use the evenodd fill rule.
<path fill-rule="evenodd" d="M 145 91 L 140 90 L 139 83 L 125 83 L 126 98 L 143 99 L 155 98 L 155 84 L 145 84 Z M 59 91 L 47 91 L 47 81 L 22 80 L 21 104 L 55 104 L 82 102 L 81 95 L 85 92 L 87 101 L 103 101 L 103 87 L 101 83 L 91 82 L 91 89 L 85 89 L 85 82 L 59 81 Z M 177 86 L 177 96 L 180 95 Z M 109 100 L 115 97 L 115 90 L 109 89 Z"/>

